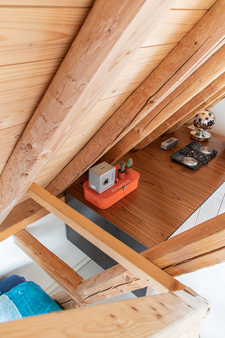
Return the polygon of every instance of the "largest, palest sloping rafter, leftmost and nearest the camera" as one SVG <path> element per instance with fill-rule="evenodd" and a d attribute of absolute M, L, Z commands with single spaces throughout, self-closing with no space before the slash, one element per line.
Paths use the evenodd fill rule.
<path fill-rule="evenodd" d="M 97 0 L 0 177 L 0 223 L 170 9 Z"/>

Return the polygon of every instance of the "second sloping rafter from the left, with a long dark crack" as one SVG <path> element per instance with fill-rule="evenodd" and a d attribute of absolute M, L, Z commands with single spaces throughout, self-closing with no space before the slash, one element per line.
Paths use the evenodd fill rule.
<path fill-rule="evenodd" d="M 225 1 L 219 0 L 49 184 L 64 191 L 225 42 Z M 128 142 L 129 144 L 129 142 Z"/>

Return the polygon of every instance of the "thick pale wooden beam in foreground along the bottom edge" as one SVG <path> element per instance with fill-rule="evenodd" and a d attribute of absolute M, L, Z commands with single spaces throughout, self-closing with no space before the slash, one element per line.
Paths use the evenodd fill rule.
<path fill-rule="evenodd" d="M 59 311 L 3 323 L 1 336 L 147 338 L 165 337 L 166 333 L 167 337 L 193 338 L 197 337 L 209 306 L 209 301 L 185 288 L 94 308 Z"/>

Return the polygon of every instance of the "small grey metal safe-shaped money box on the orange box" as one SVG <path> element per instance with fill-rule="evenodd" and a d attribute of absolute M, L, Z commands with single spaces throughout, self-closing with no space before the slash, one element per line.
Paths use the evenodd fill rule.
<path fill-rule="evenodd" d="M 89 188 L 101 194 L 115 184 L 116 167 L 106 162 L 89 169 Z"/>

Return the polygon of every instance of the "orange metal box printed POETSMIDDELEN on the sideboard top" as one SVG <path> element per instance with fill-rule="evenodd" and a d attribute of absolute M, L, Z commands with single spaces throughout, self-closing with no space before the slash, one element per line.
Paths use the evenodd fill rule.
<path fill-rule="evenodd" d="M 90 189 L 88 186 L 88 181 L 84 182 L 83 184 L 84 198 L 100 209 L 107 209 L 111 207 L 114 203 L 138 187 L 140 174 L 137 171 L 132 169 L 129 175 L 125 174 L 123 179 L 118 179 L 117 170 L 120 168 L 120 165 L 118 164 L 115 167 L 115 180 L 117 179 L 118 183 L 115 182 L 113 187 L 107 189 L 103 193 L 98 194 L 96 191 Z"/>

